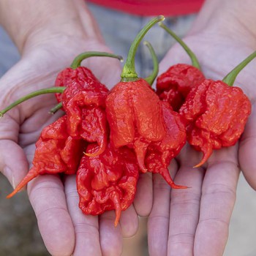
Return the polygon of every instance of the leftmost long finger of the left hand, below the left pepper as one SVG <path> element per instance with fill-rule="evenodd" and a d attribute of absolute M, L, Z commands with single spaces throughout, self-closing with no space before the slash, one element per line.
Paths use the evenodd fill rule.
<path fill-rule="evenodd" d="M 29 182 L 28 192 L 39 231 L 50 255 L 72 255 L 75 231 L 67 211 L 64 188 L 59 177 L 39 176 Z"/>

